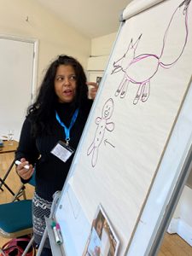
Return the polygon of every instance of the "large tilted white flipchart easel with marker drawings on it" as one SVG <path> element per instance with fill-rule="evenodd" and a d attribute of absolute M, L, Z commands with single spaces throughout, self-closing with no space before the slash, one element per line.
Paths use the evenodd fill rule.
<path fill-rule="evenodd" d="M 99 203 L 119 236 L 120 256 L 157 253 L 191 169 L 191 6 L 190 0 L 140 0 L 123 12 L 55 209 L 63 255 L 82 255 Z M 96 147 L 96 125 L 107 105 L 113 113 Z"/>

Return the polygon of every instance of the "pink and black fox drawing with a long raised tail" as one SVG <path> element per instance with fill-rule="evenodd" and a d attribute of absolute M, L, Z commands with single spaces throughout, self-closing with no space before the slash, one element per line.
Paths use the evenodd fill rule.
<path fill-rule="evenodd" d="M 146 102 L 148 100 L 150 94 L 150 80 L 154 77 L 155 73 L 157 73 L 159 67 L 170 68 L 172 67 L 183 55 L 183 50 L 185 45 L 187 44 L 189 28 L 188 28 L 188 12 L 189 12 L 189 3 L 191 0 L 185 0 L 180 3 L 177 9 L 174 11 L 172 18 L 166 28 L 166 32 L 163 38 L 163 45 L 160 52 L 160 55 L 154 54 L 142 54 L 136 56 L 136 49 L 141 40 L 142 34 L 137 38 L 137 41 L 133 44 L 133 39 L 128 46 L 125 54 L 118 60 L 113 62 L 113 73 L 123 72 L 124 76 L 121 80 L 118 89 L 115 91 L 115 96 L 119 96 L 120 98 L 124 98 L 128 89 L 128 84 L 131 82 L 132 84 L 138 85 L 137 95 L 133 100 L 133 104 L 136 105 L 140 100 L 142 102 Z M 177 19 L 177 15 L 179 13 L 179 17 L 181 17 L 180 13 L 182 13 L 183 17 L 181 19 L 183 22 L 184 29 L 184 38 L 183 43 L 181 45 L 181 50 L 179 51 L 177 57 L 170 63 L 164 63 L 162 61 L 163 54 L 166 48 L 166 39 L 169 34 L 169 30 L 171 28 L 172 22 Z M 148 67 L 148 73 L 139 73 L 136 71 L 139 70 L 140 67 Z"/>

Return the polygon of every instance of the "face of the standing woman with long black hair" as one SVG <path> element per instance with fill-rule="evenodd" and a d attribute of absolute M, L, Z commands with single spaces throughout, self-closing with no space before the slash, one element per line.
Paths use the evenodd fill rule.
<path fill-rule="evenodd" d="M 70 65 L 60 65 L 55 73 L 55 94 L 59 102 L 73 102 L 76 94 L 77 81 L 74 68 Z"/>

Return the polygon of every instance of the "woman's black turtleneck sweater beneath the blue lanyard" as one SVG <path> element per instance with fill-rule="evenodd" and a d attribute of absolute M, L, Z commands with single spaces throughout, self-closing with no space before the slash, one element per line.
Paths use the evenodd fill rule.
<path fill-rule="evenodd" d="M 91 105 L 92 101 L 88 100 L 83 108 L 79 108 L 78 117 L 70 131 L 69 145 L 74 149 L 78 147 Z M 59 103 L 55 110 L 61 121 L 68 127 L 73 116 L 69 104 Z M 48 201 L 52 201 L 55 191 L 62 189 L 74 156 L 73 154 L 67 162 L 63 162 L 50 153 L 58 141 L 65 141 L 64 128 L 55 117 L 51 121 L 52 135 L 45 133 L 38 137 L 32 137 L 31 122 L 26 118 L 20 133 L 19 147 L 15 153 L 17 160 L 24 157 L 30 164 L 36 166 L 36 193 Z"/>

